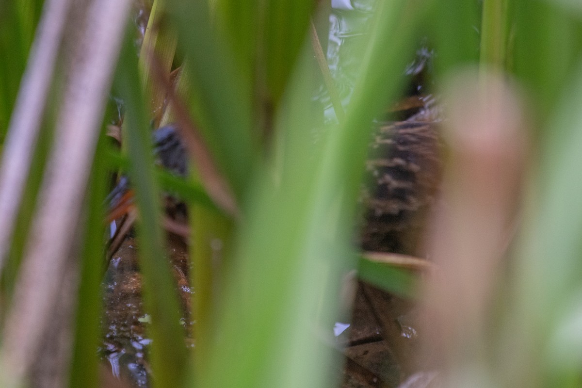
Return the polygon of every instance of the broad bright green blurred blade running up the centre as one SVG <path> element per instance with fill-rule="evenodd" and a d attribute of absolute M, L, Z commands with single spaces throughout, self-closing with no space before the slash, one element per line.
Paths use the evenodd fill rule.
<path fill-rule="evenodd" d="M 332 355 L 322 341 L 338 301 L 324 296 L 339 284 L 342 269 L 355 266 L 350 241 L 371 122 L 402 84 L 395 80 L 420 20 L 415 10 L 382 3 L 345 123 L 320 142 L 311 133 L 316 118 L 306 114 L 316 69 L 311 50 L 303 52 L 278 112 L 281 169 L 266 168 L 255 181 L 217 344 L 198 386 L 329 385 L 321 366 Z"/>

